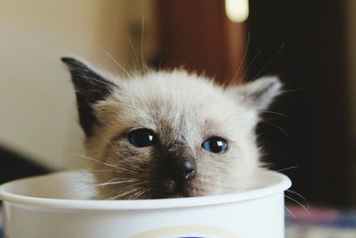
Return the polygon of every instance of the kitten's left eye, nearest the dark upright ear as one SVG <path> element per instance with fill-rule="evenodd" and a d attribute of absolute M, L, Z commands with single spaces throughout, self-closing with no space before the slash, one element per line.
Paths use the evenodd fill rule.
<path fill-rule="evenodd" d="M 136 147 L 146 147 L 157 142 L 155 133 L 147 128 L 135 129 L 127 135 L 127 138 Z"/>

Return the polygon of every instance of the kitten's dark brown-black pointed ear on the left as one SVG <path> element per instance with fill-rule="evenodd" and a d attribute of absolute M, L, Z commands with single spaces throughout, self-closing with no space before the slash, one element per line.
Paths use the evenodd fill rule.
<path fill-rule="evenodd" d="M 93 105 L 105 100 L 118 86 L 75 58 L 63 57 L 61 61 L 69 67 L 76 90 L 80 126 L 86 136 L 91 136 L 93 127 L 99 124 L 93 111 Z"/>

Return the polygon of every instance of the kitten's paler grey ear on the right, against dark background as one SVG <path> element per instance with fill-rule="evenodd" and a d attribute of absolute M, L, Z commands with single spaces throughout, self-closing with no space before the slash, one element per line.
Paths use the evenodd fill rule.
<path fill-rule="evenodd" d="M 239 103 L 254 111 L 266 110 L 278 96 L 282 84 L 277 77 L 263 77 L 242 86 L 237 86 L 234 90 Z"/>

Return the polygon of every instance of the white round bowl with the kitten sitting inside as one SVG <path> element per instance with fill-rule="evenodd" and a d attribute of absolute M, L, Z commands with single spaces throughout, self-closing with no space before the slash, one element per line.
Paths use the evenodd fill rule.
<path fill-rule="evenodd" d="M 284 191 L 277 172 L 258 173 L 250 191 L 196 198 L 85 200 L 76 171 L 0 186 L 5 238 L 284 238 Z M 65 198 L 65 199 L 64 199 Z"/>

